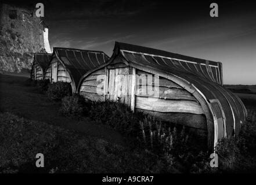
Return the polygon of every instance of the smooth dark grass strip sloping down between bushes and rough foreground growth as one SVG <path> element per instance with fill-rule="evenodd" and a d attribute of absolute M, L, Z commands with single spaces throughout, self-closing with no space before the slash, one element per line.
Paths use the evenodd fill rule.
<path fill-rule="evenodd" d="M 2 112 L 12 112 L 28 120 L 42 121 L 124 145 L 121 134 L 110 128 L 99 126 L 88 119 L 74 120 L 60 115 L 60 102 L 50 101 L 37 87 L 26 86 L 28 78 L 24 76 L 0 75 Z"/>

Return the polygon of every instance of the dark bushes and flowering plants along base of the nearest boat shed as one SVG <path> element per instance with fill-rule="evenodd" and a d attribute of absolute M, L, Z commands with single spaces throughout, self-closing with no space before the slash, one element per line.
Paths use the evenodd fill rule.
<path fill-rule="evenodd" d="M 87 105 L 88 106 L 88 105 Z M 250 172 L 256 169 L 255 112 L 249 111 L 241 134 L 219 141 L 216 152 L 219 154 L 219 168 L 211 168 L 210 154 L 205 138 L 190 133 L 185 127 L 162 123 L 154 117 L 132 113 L 118 102 L 93 102 L 89 104 L 89 116 L 99 124 L 120 131 L 128 136 L 132 147 L 144 148 L 165 161 L 163 171 L 188 173 Z M 131 138 L 136 138 L 132 140 Z M 248 168 L 247 168 L 248 166 Z"/>

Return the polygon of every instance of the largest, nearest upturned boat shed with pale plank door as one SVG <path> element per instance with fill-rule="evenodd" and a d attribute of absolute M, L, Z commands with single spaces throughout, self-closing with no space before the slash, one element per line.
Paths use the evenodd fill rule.
<path fill-rule="evenodd" d="M 214 149 L 218 139 L 239 134 L 247 115 L 240 99 L 222 85 L 221 62 L 116 42 L 110 60 L 86 72 L 78 92 L 205 130 Z"/>

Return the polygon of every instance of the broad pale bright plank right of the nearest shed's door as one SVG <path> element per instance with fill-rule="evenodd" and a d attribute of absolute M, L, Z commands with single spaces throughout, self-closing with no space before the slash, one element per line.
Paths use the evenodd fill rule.
<path fill-rule="evenodd" d="M 136 96 L 135 107 L 139 109 L 152 110 L 158 112 L 204 114 L 204 111 L 199 103 L 185 100 L 181 101 Z"/>

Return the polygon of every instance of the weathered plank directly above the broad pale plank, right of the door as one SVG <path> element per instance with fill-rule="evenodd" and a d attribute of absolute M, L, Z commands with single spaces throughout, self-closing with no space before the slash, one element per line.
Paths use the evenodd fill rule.
<path fill-rule="evenodd" d="M 136 86 L 136 95 L 140 97 L 196 101 L 196 98 L 190 92 L 178 88 Z"/>

